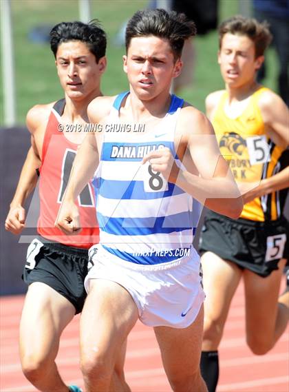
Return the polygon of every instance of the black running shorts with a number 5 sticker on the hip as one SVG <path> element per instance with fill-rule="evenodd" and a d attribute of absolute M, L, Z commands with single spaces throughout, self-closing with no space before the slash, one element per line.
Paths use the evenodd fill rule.
<path fill-rule="evenodd" d="M 233 220 L 209 211 L 204 218 L 199 251 L 211 251 L 266 277 L 288 257 L 289 224 L 283 216 L 270 222 Z"/>

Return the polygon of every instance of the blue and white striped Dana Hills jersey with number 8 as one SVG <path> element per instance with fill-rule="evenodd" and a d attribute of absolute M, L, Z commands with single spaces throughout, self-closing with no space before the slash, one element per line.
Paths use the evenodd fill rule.
<path fill-rule="evenodd" d="M 142 158 L 165 146 L 182 167 L 174 135 L 184 101 L 172 95 L 169 111 L 153 131 L 121 132 L 119 110 L 127 94 L 119 94 L 114 101 L 93 182 L 100 244 L 129 262 L 170 262 L 188 256 L 200 207 L 180 187 L 153 172 L 149 163 L 142 165 Z"/>

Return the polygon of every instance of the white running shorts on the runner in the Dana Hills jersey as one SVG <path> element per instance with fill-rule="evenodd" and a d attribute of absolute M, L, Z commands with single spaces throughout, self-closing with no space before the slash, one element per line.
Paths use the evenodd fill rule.
<path fill-rule="evenodd" d="M 200 256 L 191 247 L 189 256 L 158 265 L 125 261 L 101 245 L 89 249 L 92 267 L 85 278 L 111 280 L 124 287 L 138 307 L 140 321 L 150 327 L 186 328 L 204 302 Z"/>

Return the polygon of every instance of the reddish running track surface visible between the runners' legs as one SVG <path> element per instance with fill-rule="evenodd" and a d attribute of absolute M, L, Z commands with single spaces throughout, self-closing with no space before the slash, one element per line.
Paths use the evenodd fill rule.
<path fill-rule="evenodd" d="M 1 392 L 36 391 L 22 375 L 19 364 L 17 338 L 22 305 L 23 296 L 0 298 Z M 67 384 L 83 386 L 78 369 L 78 322 L 76 316 L 63 332 L 56 362 Z M 129 336 L 125 368 L 133 392 L 171 391 L 153 330 L 140 322 Z M 250 353 L 244 336 L 242 285 L 226 323 L 220 347 L 220 369 L 218 392 L 289 392 L 289 329 L 267 355 Z"/>

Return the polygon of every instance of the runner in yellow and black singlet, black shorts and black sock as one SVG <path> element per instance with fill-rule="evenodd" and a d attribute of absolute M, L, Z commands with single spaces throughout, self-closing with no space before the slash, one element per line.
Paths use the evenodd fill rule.
<path fill-rule="evenodd" d="M 244 209 L 237 220 L 208 212 L 200 236 L 206 293 L 201 369 L 209 392 L 217 386 L 217 349 L 241 278 L 253 353 L 270 350 L 289 317 L 289 291 L 278 298 L 288 249 L 288 222 L 282 216 L 289 186 L 288 108 L 255 82 L 270 32 L 266 23 L 233 17 L 219 33 L 226 90 L 209 94 L 206 111 L 242 190 Z"/>

